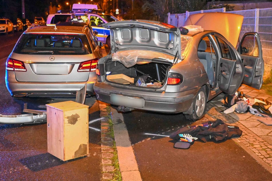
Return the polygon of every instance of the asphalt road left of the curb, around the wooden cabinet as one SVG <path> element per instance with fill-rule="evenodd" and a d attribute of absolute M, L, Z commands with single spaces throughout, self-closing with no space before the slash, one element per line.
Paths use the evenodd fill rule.
<path fill-rule="evenodd" d="M 5 62 L 21 32 L 0 35 L 0 114 L 27 114 L 29 109 L 46 110 L 45 104 L 74 100 L 74 98 L 19 98 L 13 99 L 5 87 Z M 99 118 L 95 97 L 86 98 L 89 121 Z M 89 155 L 61 161 L 47 153 L 46 123 L 0 124 L 0 180 L 100 180 L 101 146 L 100 122 L 89 124 Z"/>

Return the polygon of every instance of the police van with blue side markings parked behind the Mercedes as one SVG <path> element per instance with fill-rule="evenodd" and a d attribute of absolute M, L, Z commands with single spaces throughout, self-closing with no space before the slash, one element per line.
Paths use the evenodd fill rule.
<path fill-rule="evenodd" d="M 71 16 L 74 16 L 71 18 Z M 107 44 L 110 47 L 110 30 L 100 26 L 103 23 L 112 21 L 119 21 L 116 17 L 103 13 L 98 9 L 97 5 L 93 4 L 74 4 L 72 11 L 63 12 L 58 11 L 56 14 L 49 14 L 47 17 L 47 26 L 54 26 L 59 21 L 83 21 L 90 23 L 94 31 L 97 31 L 96 35 L 98 41 Z"/>

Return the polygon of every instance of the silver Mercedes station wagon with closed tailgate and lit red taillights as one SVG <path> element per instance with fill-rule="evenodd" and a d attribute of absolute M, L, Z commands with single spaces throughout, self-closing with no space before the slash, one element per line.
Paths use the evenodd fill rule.
<path fill-rule="evenodd" d="M 14 97 L 75 96 L 87 83 L 93 95 L 98 44 L 87 25 L 32 25 L 7 59 L 6 87 Z"/>

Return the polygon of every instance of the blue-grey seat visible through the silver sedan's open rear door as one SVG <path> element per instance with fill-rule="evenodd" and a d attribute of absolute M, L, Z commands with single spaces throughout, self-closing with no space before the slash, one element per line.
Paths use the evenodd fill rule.
<path fill-rule="evenodd" d="M 207 49 L 207 44 L 204 40 L 201 40 L 198 49 L 197 55 L 199 61 L 203 64 L 204 69 L 208 75 L 209 83 L 213 87 L 214 86 L 214 69 L 213 69 L 213 59 L 210 53 L 205 52 Z"/>

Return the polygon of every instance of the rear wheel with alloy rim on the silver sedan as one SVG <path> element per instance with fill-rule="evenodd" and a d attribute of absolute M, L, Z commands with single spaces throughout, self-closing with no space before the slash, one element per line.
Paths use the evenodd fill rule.
<path fill-rule="evenodd" d="M 197 92 L 193 103 L 193 114 L 184 115 L 189 121 L 195 121 L 202 118 L 205 115 L 207 106 L 207 96 L 205 87 L 201 87 Z"/>

